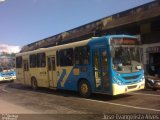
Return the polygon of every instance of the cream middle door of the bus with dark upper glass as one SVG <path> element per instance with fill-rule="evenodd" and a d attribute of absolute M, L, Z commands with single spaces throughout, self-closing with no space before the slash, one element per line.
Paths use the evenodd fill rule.
<path fill-rule="evenodd" d="M 48 77 L 49 86 L 54 88 L 57 86 L 57 74 L 56 74 L 56 60 L 55 56 L 48 57 Z"/>

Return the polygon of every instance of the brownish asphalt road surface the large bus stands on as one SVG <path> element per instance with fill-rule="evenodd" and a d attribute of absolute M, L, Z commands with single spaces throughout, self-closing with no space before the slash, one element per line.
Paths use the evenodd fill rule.
<path fill-rule="evenodd" d="M 0 102 L 6 106 L 6 110 L 3 110 L 0 116 L 2 119 L 8 117 L 4 111 L 6 114 L 18 115 L 18 120 L 120 119 L 121 116 L 118 115 L 124 117 L 126 114 L 132 118 L 139 115 L 145 119 L 160 119 L 160 91 L 152 90 L 115 97 L 94 94 L 90 99 L 85 99 L 71 91 L 44 88 L 33 91 L 28 86 L 0 83 Z M 12 107 L 7 108 L 9 105 Z M 150 114 L 151 116 L 146 117 Z"/>

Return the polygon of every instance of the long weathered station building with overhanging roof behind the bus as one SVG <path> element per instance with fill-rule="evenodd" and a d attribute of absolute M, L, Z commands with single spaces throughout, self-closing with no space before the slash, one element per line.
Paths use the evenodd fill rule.
<path fill-rule="evenodd" d="M 107 16 L 69 31 L 31 43 L 24 46 L 21 52 L 81 41 L 104 34 L 129 34 L 140 36 L 143 47 L 145 72 L 151 75 L 159 74 L 158 67 L 154 67 L 158 66 L 158 62 L 160 61 L 159 0 Z"/>

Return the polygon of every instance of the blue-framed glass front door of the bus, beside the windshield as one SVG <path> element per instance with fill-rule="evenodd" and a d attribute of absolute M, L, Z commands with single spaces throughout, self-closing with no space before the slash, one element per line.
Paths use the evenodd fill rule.
<path fill-rule="evenodd" d="M 109 92 L 109 74 L 106 49 L 93 50 L 93 72 L 96 91 Z"/>

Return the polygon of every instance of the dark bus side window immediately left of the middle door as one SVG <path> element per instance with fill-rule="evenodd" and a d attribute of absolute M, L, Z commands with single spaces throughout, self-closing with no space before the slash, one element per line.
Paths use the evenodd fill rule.
<path fill-rule="evenodd" d="M 45 67 L 46 66 L 46 55 L 45 53 L 37 54 L 37 67 Z"/>

